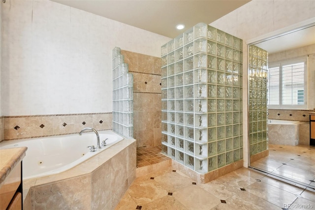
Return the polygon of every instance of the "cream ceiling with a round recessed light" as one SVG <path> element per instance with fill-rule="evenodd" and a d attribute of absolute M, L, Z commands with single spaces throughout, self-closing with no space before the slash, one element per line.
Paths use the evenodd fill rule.
<path fill-rule="evenodd" d="M 175 38 L 210 24 L 250 0 L 52 0 L 159 35 Z M 177 24 L 185 24 L 182 31 Z"/>

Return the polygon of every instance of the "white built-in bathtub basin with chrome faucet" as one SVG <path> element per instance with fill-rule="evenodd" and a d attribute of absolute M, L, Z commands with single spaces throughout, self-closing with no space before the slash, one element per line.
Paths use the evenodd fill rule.
<path fill-rule="evenodd" d="M 113 131 L 99 131 L 99 141 L 106 140 L 106 146 L 90 152 L 87 146 L 95 145 L 94 132 L 36 138 L 27 140 L 7 140 L 0 143 L 0 149 L 27 146 L 28 150 L 23 159 L 23 179 L 54 175 L 64 172 L 88 160 L 96 154 L 124 138 Z"/>

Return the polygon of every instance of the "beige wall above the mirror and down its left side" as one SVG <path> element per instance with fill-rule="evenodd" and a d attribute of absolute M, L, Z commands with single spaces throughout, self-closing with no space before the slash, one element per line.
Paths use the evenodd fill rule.
<path fill-rule="evenodd" d="M 287 15 L 290 14 L 290 15 Z M 226 33 L 243 39 L 243 86 L 247 82 L 247 44 L 262 37 L 276 35 L 276 31 L 307 21 L 315 22 L 314 0 L 252 0 L 244 6 L 230 12 L 210 25 Z M 283 32 L 288 31 L 284 30 Z M 266 36 L 268 35 L 268 36 Z M 243 102 L 248 101 L 248 92 L 243 91 Z M 243 104 L 243 133 L 248 133 L 247 103 Z M 248 148 L 248 136 L 243 138 L 244 148 Z M 244 151 L 244 167 L 248 167 L 248 151 Z"/>

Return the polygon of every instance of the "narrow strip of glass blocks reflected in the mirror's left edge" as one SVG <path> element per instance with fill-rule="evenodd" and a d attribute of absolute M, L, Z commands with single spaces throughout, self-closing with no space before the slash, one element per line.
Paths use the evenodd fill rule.
<path fill-rule="evenodd" d="M 250 155 L 268 149 L 267 64 L 268 52 L 251 45 L 249 47 Z"/>

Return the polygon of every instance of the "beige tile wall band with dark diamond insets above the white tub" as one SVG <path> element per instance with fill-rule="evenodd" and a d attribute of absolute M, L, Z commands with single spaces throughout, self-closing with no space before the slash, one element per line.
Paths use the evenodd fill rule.
<path fill-rule="evenodd" d="M 112 113 L 4 116 L 3 139 L 17 140 L 79 133 L 83 128 L 112 129 Z"/>

